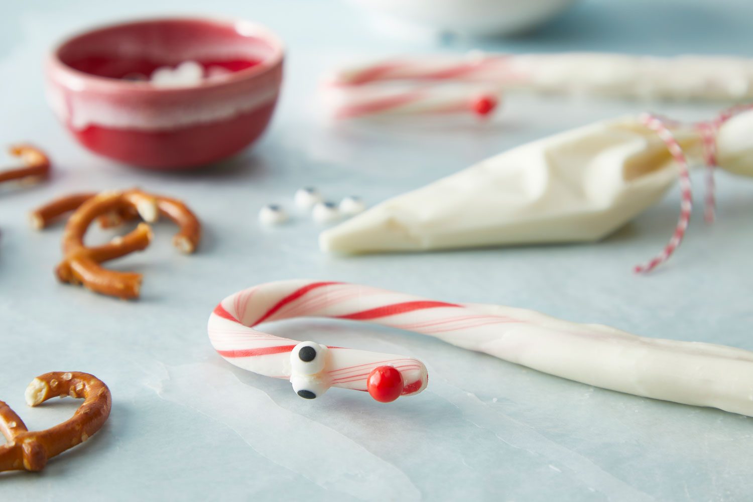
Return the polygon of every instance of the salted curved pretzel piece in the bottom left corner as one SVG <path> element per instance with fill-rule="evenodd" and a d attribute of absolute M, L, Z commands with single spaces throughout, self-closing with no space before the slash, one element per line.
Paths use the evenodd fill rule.
<path fill-rule="evenodd" d="M 50 458 L 84 443 L 110 415 L 112 399 L 104 382 L 89 373 L 53 371 L 38 376 L 26 388 L 26 403 L 37 406 L 51 397 L 84 399 L 68 420 L 44 431 L 29 431 L 10 406 L 0 401 L 0 471 L 42 470 Z"/>

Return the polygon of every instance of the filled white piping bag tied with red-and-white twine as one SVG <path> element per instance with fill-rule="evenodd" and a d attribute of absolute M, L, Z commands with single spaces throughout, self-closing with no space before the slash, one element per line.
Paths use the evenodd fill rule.
<path fill-rule="evenodd" d="M 720 167 L 753 175 L 753 111 L 718 132 Z M 672 129 L 703 163 L 693 126 Z M 426 251 L 608 236 L 657 202 L 678 166 L 638 117 L 605 120 L 505 151 L 370 208 L 319 236 L 322 251 Z"/>

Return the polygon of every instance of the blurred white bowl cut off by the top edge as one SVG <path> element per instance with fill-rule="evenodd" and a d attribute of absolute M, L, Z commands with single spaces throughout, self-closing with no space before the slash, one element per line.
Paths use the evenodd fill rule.
<path fill-rule="evenodd" d="M 390 20 L 439 32 L 511 35 L 544 23 L 575 0 L 350 0 Z"/>

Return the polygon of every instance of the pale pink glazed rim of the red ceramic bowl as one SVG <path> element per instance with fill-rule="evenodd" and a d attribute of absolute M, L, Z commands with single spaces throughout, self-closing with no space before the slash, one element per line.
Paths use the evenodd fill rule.
<path fill-rule="evenodd" d="M 135 26 L 146 23 L 160 23 L 160 22 L 194 22 L 194 23 L 209 23 L 222 26 L 228 26 L 239 32 L 240 35 L 245 35 L 239 31 L 239 26 L 248 30 L 249 35 L 253 36 L 261 41 L 267 42 L 272 49 L 272 54 L 263 59 L 258 65 L 253 65 L 250 68 L 244 68 L 239 71 L 233 71 L 232 74 L 226 75 L 221 79 L 202 79 L 200 84 L 191 86 L 175 86 L 175 87 L 157 87 L 150 84 L 148 81 L 127 81 L 120 78 L 102 77 L 100 75 L 93 75 L 86 71 L 77 70 L 62 62 L 60 59 L 60 51 L 67 44 L 72 43 L 77 38 L 84 37 L 86 35 L 92 35 L 97 32 L 105 32 L 108 29 L 120 28 L 123 26 Z M 58 78 L 54 78 L 50 74 L 51 70 L 62 72 L 69 82 L 66 83 L 66 87 L 83 88 L 92 85 L 99 87 L 102 90 L 113 91 L 129 91 L 137 93 L 184 93 L 197 90 L 210 90 L 221 87 L 227 87 L 240 81 L 248 81 L 255 78 L 258 75 L 263 75 L 273 68 L 282 64 L 285 59 L 285 44 L 272 30 L 267 28 L 261 23 L 255 23 L 242 18 L 235 17 L 213 17 L 213 16 L 160 16 L 160 17 L 141 17 L 131 20 L 118 21 L 114 23 L 101 23 L 99 25 L 90 26 L 89 28 L 81 29 L 77 32 L 73 32 L 71 35 L 67 35 L 62 41 L 53 45 L 52 50 L 47 56 L 48 65 L 48 77 L 50 80 L 55 81 L 57 84 L 62 84 Z"/>

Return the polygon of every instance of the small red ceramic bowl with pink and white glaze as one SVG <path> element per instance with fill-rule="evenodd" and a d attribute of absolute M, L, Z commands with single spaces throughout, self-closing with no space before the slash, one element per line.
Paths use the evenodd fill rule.
<path fill-rule="evenodd" d="M 245 21 L 157 19 L 94 29 L 47 62 L 47 99 L 81 145 L 152 169 L 221 160 L 264 132 L 282 83 L 283 48 Z M 199 62 L 211 74 L 189 87 L 156 87 L 159 67 Z"/>

